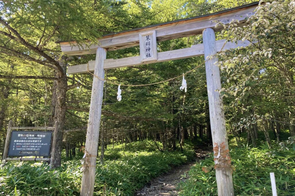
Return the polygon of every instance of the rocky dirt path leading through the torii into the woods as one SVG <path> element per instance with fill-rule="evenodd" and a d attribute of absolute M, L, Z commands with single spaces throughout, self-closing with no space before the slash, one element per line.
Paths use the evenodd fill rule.
<path fill-rule="evenodd" d="M 211 153 L 213 147 L 206 147 L 196 150 L 196 161 L 204 159 Z M 178 195 L 178 183 L 189 178 L 188 172 L 191 166 L 196 164 L 196 161 L 173 168 L 170 172 L 163 174 L 145 185 L 141 190 L 135 192 L 137 195 L 163 196 L 163 195 Z M 186 174 L 186 175 L 184 175 Z"/>

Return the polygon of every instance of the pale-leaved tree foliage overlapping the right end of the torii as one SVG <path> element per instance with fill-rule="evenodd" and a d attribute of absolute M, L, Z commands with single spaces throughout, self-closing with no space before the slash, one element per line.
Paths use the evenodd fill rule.
<path fill-rule="evenodd" d="M 252 43 L 221 53 L 221 94 L 228 97 L 225 110 L 233 126 L 248 128 L 259 120 L 293 121 L 294 14 L 294 1 L 261 1 L 248 25 L 234 21 L 223 25 L 230 41 Z M 294 126 L 290 132 L 295 134 Z"/>

